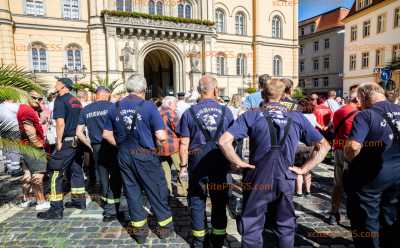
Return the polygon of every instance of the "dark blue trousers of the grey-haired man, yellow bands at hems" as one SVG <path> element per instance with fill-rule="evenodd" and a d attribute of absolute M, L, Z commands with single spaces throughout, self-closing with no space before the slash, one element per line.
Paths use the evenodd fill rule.
<path fill-rule="evenodd" d="M 158 224 L 161 227 L 171 227 L 169 191 L 160 159 L 152 152 L 137 152 L 139 149 L 120 147 L 118 150 L 118 164 L 128 202 L 130 224 L 140 228 L 147 223 L 147 212 L 143 208 L 144 191 Z"/>

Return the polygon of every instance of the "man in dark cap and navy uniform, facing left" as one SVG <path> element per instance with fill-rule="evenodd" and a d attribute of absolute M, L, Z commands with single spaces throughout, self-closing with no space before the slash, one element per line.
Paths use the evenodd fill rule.
<path fill-rule="evenodd" d="M 85 180 L 82 171 L 82 146 L 78 144 L 76 127 L 82 105 L 71 95 L 73 83 L 69 78 L 59 78 L 55 89 L 58 96 L 54 102 L 53 118 L 56 120 L 56 151 L 48 164 L 50 178 L 50 209 L 37 214 L 40 219 L 62 219 L 63 175 L 71 180 L 71 202 L 67 208 L 86 208 Z"/>

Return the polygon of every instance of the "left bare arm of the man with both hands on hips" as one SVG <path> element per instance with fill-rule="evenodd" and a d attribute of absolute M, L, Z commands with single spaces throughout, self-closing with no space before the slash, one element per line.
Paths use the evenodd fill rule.
<path fill-rule="evenodd" d="M 224 153 L 225 157 L 235 166 L 236 169 L 250 168 L 254 169 L 254 165 L 250 165 L 236 154 L 235 148 L 233 147 L 234 137 L 231 133 L 225 132 L 219 139 L 219 147 Z"/>

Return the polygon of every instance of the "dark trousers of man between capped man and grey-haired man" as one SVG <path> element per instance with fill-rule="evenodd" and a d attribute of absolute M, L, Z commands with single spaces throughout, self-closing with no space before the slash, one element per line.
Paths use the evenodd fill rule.
<path fill-rule="evenodd" d="M 93 145 L 96 176 L 100 182 L 104 216 L 116 215 L 121 197 L 121 173 L 118 167 L 117 149 L 107 142 Z"/>

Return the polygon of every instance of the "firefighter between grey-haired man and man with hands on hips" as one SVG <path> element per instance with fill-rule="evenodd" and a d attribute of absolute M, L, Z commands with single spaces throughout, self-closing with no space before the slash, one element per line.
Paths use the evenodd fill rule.
<path fill-rule="evenodd" d="M 186 110 L 178 126 L 181 136 L 181 176 L 188 173 L 188 201 L 192 218 L 193 247 L 203 247 L 206 236 L 207 193 L 211 198 L 211 242 L 222 247 L 226 235 L 229 169 L 217 146 L 218 138 L 233 123 L 231 111 L 217 102 L 217 81 L 204 76 L 199 82 L 201 100 Z M 186 174 L 187 175 L 187 174 Z"/>

